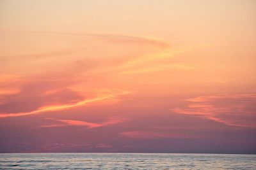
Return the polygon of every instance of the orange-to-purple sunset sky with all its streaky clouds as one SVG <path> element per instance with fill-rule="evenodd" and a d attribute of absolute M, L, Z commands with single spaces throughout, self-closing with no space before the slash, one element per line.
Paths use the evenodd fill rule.
<path fill-rule="evenodd" d="M 255 9 L 1 0 L 0 152 L 255 154 Z"/>

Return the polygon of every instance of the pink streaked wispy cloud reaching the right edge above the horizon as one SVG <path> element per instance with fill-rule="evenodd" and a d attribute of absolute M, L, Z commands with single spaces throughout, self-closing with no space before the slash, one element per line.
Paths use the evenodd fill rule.
<path fill-rule="evenodd" d="M 186 99 L 184 108 L 172 109 L 175 113 L 195 115 L 226 125 L 256 127 L 256 94 L 198 96 Z"/>

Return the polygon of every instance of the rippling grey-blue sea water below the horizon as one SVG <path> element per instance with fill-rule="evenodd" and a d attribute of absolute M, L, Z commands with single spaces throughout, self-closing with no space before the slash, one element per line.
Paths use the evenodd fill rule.
<path fill-rule="evenodd" d="M 256 155 L 1 153 L 0 169 L 256 169 Z"/>

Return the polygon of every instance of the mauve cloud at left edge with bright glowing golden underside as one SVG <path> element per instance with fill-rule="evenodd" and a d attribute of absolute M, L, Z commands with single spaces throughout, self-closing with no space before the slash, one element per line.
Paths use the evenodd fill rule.
<path fill-rule="evenodd" d="M 4 90 L 0 97 L 0 118 L 35 115 L 70 110 L 92 103 L 118 102 L 118 96 L 129 94 L 119 89 L 76 89 L 72 78 L 36 78 L 18 81 L 19 90 Z"/>

